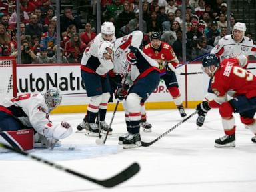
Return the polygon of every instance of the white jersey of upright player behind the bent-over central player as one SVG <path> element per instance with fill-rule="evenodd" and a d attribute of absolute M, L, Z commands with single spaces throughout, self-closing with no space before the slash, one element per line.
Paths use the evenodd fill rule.
<path fill-rule="evenodd" d="M 83 57 L 81 59 L 81 69 L 84 71 L 95 72 L 98 75 L 105 75 L 109 70 L 113 69 L 113 62 L 106 61 L 99 57 L 99 47 L 104 39 L 99 33 L 95 39 L 93 39 L 83 52 Z M 113 37 L 111 43 L 115 42 L 115 36 Z"/>

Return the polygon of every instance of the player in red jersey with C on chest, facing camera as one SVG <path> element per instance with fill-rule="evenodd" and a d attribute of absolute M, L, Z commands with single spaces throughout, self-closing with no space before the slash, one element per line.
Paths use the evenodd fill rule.
<path fill-rule="evenodd" d="M 173 48 L 161 41 L 160 33 L 153 32 L 151 43 L 145 45 L 143 52 L 159 63 L 161 73 L 165 73 L 161 78 L 165 81 L 165 85 L 171 97 L 173 97 L 173 101 L 179 109 L 181 117 L 185 117 L 187 114 L 182 104 L 181 93 L 179 92 L 179 85 L 175 75 L 175 67 L 179 64 L 179 60 Z"/>

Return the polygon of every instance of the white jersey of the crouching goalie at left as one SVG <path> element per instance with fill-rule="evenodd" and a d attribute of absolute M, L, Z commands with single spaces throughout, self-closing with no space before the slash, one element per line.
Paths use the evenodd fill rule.
<path fill-rule="evenodd" d="M 11 111 L 12 115 L 19 119 L 23 125 L 34 128 L 37 133 L 45 137 L 53 137 L 53 131 L 62 127 L 61 123 L 54 125 L 49 120 L 49 109 L 41 94 L 27 93 L 12 99 L 5 99 L 1 105 Z M 69 131 L 71 132 L 67 133 L 67 136 L 72 133 L 72 129 Z"/>

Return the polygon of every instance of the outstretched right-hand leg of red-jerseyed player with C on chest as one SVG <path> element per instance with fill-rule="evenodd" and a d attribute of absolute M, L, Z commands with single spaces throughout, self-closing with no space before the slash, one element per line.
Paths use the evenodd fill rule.
<path fill-rule="evenodd" d="M 163 79 L 171 97 L 173 97 L 173 101 L 177 106 L 177 109 L 179 110 L 179 114 L 181 117 L 187 116 L 183 107 L 181 93 L 179 91 L 179 85 L 175 73 L 173 71 L 167 71 L 163 76 Z"/>

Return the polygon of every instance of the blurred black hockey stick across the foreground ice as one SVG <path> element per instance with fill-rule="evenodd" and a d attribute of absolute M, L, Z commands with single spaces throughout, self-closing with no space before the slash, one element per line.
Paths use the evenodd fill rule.
<path fill-rule="evenodd" d="M 88 181 L 91 181 L 91 182 L 96 183 L 98 185 L 101 185 L 103 187 L 115 187 L 115 185 L 123 183 L 124 181 L 127 181 L 128 179 L 133 177 L 133 175 L 138 173 L 139 169 L 140 169 L 138 163 L 133 163 L 132 165 L 127 167 L 125 170 L 121 171 L 120 173 L 118 173 L 117 175 L 115 175 L 115 176 L 113 176 L 109 179 L 98 180 L 98 179 L 94 179 L 92 177 L 89 177 L 87 175 L 83 175 L 82 173 L 78 173 L 76 171 L 68 169 L 66 167 L 63 167 L 62 165 L 59 165 L 57 163 L 53 163 L 51 161 L 47 161 L 45 159 L 42 159 L 41 157 L 36 157 L 36 156 L 31 155 L 30 153 L 27 153 L 25 151 L 19 151 L 17 149 L 13 149 L 13 147 L 9 147 L 8 145 L 5 145 L 3 143 L 0 143 L 0 147 L 3 147 L 5 149 L 9 149 L 9 150 L 11 150 L 15 153 L 19 153 L 20 155 L 27 156 L 30 159 L 33 159 L 35 161 L 39 161 L 39 162 L 44 163 L 46 165 L 49 165 L 51 167 L 55 167 L 56 169 L 59 169 L 59 170 L 64 171 L 66 173 L 70 173 L 71 175 L 75 175 L 75 176 L 80 177 L 82 179 L 86 179 Z"/>

